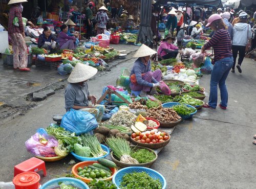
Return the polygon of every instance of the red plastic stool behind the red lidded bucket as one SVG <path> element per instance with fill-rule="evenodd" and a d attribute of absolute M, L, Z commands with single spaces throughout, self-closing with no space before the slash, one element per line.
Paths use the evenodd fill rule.
<path fill-rule="evenodd" d="M 17 166 L 14 166 L 14 177 L 19 173 L 38 172 L 41 170 L 44 171 L 44 176 L 46 176 L 47 173 L 45 161 L 32 157 L 26 161 L 23 161 L 22 163 L 17 164 Z"/>

